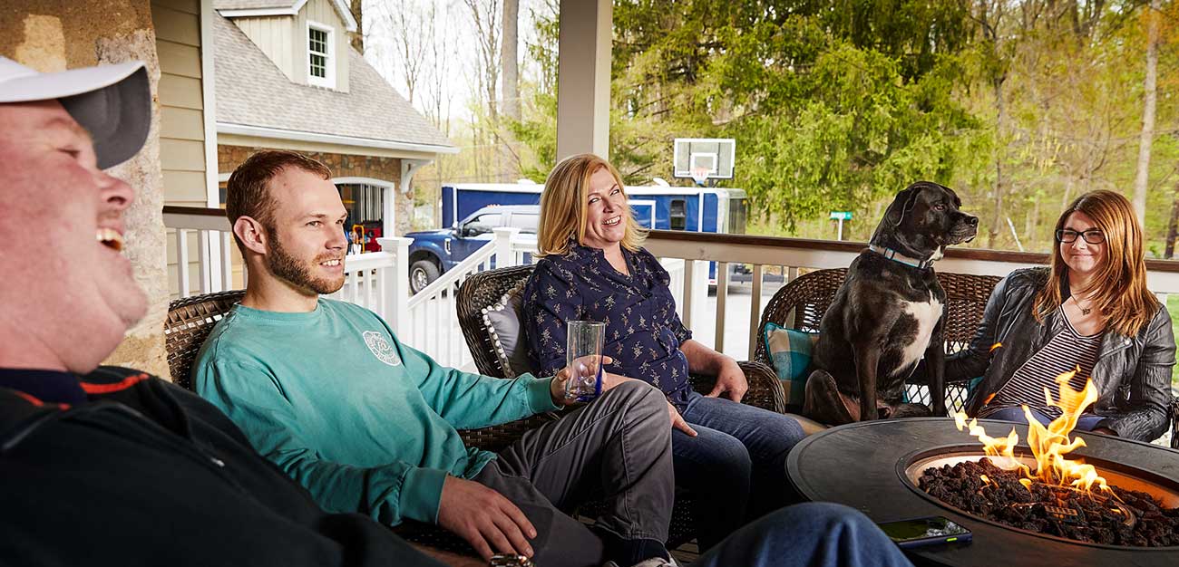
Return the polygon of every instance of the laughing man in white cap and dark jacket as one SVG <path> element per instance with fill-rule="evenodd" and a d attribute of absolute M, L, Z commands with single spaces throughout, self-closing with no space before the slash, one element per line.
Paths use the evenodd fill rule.
<path fill-rule="evenodd" d="M 120 254 L 147 136 L 139 62 L 40 74 L 0 58 L 0 563 L 436 566 L 329 514 L 213 406 L 99 367 L 146 300 Z"/>

